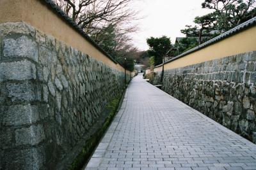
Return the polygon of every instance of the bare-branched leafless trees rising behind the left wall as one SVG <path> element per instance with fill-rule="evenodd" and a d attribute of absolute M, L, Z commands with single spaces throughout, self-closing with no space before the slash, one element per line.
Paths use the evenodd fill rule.
<path fill-rule="evenodd" d="M 132 3 L 140 0 L 54 0 L 67 15 L 118 62 L 133 63 L 136 49 L 129 33 L 136 32 L 138 11 Z M 132 69 L 132 66 L 130 67 Z"/>

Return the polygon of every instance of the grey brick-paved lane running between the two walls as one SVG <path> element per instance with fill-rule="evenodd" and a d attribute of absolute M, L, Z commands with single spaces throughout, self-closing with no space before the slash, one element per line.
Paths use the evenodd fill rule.
<path fill-rule="evenodd" d="M 256 169 L 256 145 L 139 74 L 85 169 Z"/>

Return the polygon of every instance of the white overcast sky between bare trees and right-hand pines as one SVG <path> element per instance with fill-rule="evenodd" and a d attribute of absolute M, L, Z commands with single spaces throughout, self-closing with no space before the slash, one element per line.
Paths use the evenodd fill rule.
<path fill-rule="evenodd" d="M 139 50 L 147 50 L 146 39 L 150 36 L 168 36 L 174 43 L 176 37 L 184 36 L 180 29 L 193 25 L 196 16 L 210 13 L 202 9 L 204 0 L 139 0 L 134 9 L 143 16 L 138 23 L 140 31 L 132 34 L 133 44 Z"/>

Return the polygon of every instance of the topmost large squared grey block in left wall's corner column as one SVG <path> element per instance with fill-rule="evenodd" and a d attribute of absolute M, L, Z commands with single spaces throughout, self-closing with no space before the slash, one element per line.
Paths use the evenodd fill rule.
<path fill-rule="evenodd" d="M 29 39 L 27 36 L 21 36 L 17 39 L 3 39 L 3 57 L 28 57 L 29 59 L 38 62 L 37 45 L 35 41 Z"/>

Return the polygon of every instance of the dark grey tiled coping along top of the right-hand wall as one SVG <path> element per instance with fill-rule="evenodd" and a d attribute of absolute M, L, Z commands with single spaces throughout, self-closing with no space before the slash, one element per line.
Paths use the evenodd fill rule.
<path fill-rule="evenodd" d="M 172 62 L 173 60 L 180 59 L 180 58 L 188 55 L 189 53 L 196 52 L 198 50 L 201 50 L 202 48 L 205 48 L 205 47 L 210 46 L 214 43 L 217 43 L 218 41 L 221 41 L 225 38 L 228 38 L 228 37 L 230 37 L 234 34 L 237 34 L 241 31 L 243 31 L 244 29 L 248 29 L 248 28 L 252 27 L 253 25 L 256 25 L 256 17 L 244 22 L 243 24 L 240 24 L 240 25 L 234 27 L 233 29 L 230 29 L 227 32 L 224 32 L 223 34 L 220 34 L 220 36 L 216 36 L 215 38 L 212 38 L 209 41 L 206 41 L 205 43 L 202 43 L 202 45 L 198 45 L 195 48 L 192 48 L 191 50 L 188 50 L 184 53 L 181 53 L 180 55 L 177 55 L 176 57 L 173 57 L 170 60 L 167 60 L 166 62 L 164 62 L 164 64 Z M 154 68 L 161 67 L 161 66 L 163 66 L 163 64 L 159 64 L 159 65 L 155 66 Z"/>

